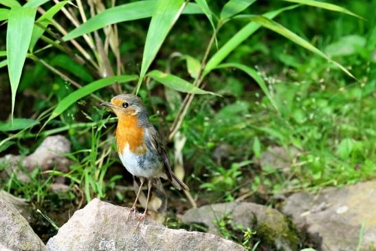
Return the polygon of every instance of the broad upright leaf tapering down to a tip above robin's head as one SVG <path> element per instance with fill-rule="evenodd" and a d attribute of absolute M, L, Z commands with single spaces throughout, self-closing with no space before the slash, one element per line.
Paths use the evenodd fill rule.
<path fill-rule="evenodd" d="M 168 32 L 184 10 L 186 4 L 184 0 L 158 0 L 151 17 L 148 34 L 146 35 L 144 53 L 142 54 L 142 63 L 140 78 L 138 79 L 136 94 L 140 89 L 142 80 L 151 63 L 153 62 L 159 48 L 162 46 Z"/>

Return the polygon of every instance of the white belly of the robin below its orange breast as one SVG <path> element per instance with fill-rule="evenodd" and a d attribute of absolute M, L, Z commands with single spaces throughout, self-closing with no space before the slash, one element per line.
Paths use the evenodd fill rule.
<path fill-rule="evenodd" d="M 126 171 L 129 171 L 132 175 L 146 178 L 156 178 L 164 175 L 162 172 L 162 166 L 157 167 L 155 166 L 155 163 L 150 163 L 151 166 L 144 166 L 144 168 L 142 168 L 138 163 L 140 155 L 132 153 L 129 150 L 129 144 L 126 144 L 121 154 L 119 153 L 119 157 L 123 166 L 126 168 Z"/>

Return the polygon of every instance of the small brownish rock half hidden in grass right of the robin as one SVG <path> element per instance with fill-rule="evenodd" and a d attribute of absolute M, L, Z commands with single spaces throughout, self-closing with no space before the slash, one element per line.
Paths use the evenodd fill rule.
<path fill-rule="evenodd" d="M 263 169 L 273 168 L 288 171 L 291 164 L 296 162 L 299 153 L 300 151 L 295 147 L 285 149 L 281 146 L 269 146 L 260 158 L 255 156 L 253 161 Z"/>

